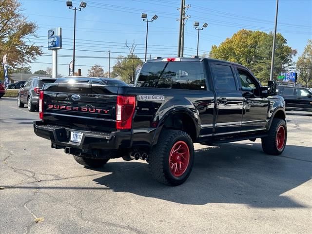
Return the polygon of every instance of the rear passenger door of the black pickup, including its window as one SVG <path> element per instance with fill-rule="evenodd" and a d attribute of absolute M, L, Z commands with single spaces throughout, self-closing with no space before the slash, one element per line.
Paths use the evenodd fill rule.
<path fill-rule="evenodd" d="M 210 63 L 216 93 L 215 136 L 240 133 L 243 96 L 239 91 L 234 67 L 229 63 Z"/>

